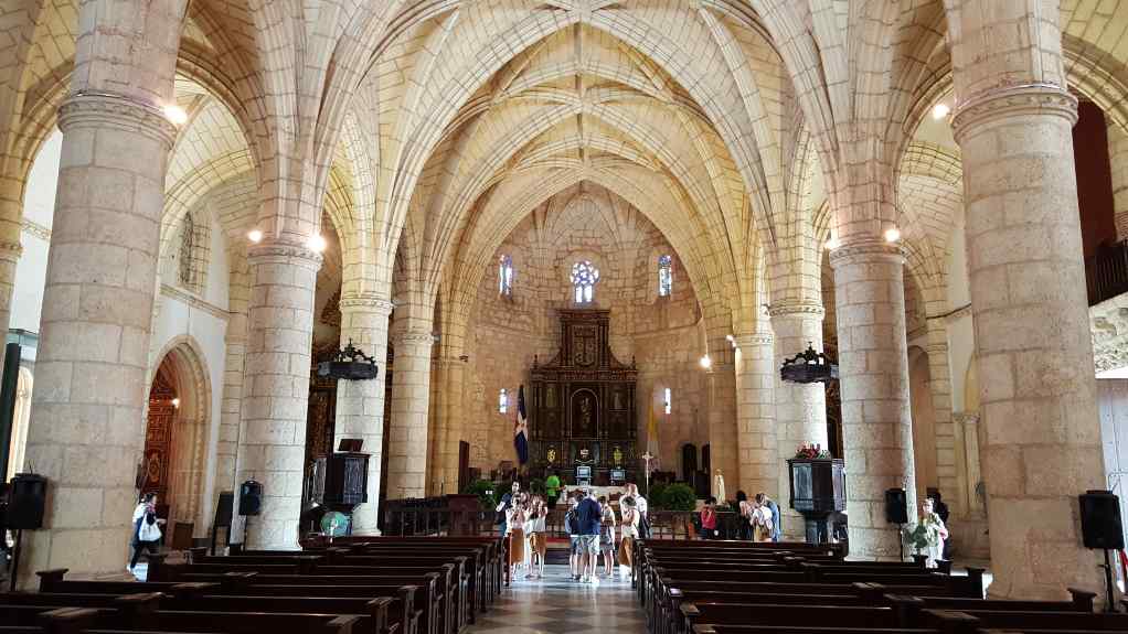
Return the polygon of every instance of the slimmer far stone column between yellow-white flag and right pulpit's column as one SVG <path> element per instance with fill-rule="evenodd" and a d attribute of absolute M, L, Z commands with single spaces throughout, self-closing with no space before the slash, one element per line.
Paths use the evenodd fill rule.
<path fill-rule="evenodd" d="M 779 488 L 776 466 L 775 385 L 772 334 L 738 334 L 737 343 L 737 447 L 740 479 L 726 481 L 728 497 L 743 489 L 749 498 L 764 491 L 775 495 Z M 711 449 L 712 450 L 712 449 Z M 731 484 L 729 484 L 731 482 Z"/>

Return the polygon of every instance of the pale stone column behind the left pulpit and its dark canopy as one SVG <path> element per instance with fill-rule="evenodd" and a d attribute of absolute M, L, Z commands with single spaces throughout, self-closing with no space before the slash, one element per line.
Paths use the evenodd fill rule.
<path fill-rule="evenodd" d="M 334 443 L 360 438 L 368 459 L 368 502 L 353 514 L 353 533 L 377 535 L 380 517 L 380 462 L 384 457 L 384 391 L 388 357 L 388 316 L 391 302 L 371 293 L 341 296 L 341 341 L 376 359 L 379 376 L 372 381 L 337 382 L 337 420 Z"/>

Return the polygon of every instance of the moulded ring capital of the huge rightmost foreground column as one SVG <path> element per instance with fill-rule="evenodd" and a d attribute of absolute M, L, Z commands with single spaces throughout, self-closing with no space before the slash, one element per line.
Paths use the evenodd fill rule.
<path fill-rule="evenodd" d="M 957 143 L 969 130 L 994 119 L 1051 115 L 1077 123 L 1077 98 L 1056 83 L 1020 83 L 982 90 L 961 99 L 952 116 L 952 133 Z"/>

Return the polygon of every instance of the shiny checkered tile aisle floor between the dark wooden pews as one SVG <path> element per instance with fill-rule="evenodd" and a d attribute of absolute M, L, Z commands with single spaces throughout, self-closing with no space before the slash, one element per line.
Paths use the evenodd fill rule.
<path fill-rule="evenodd" d="M 545 566 L 541 580 L 514 579 L 468 634 L 645 634 L 646 619 L 629 578 L 572 581 L 566 565 Z"/>

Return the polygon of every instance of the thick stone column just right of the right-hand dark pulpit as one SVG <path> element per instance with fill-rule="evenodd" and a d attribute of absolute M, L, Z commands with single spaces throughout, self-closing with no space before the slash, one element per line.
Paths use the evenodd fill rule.
<path fill-rule="evenodd" d="M 856 559 L 896 560 L 901 537 L 885 521 L 887 489 L 905 489 L 916 516 L 913 420 L 905 337 L 905 258 L 884 242 L 830 253 L 838 318 L 843 445 L 849 550 Z"/>

